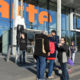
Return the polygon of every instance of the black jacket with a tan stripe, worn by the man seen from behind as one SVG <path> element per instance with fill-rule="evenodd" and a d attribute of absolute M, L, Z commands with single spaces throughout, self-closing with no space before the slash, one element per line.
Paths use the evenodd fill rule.
<path fill-rule="evenodd" d="M 48 36 L 44 34 L 36 34 L 35 35 L 35 49 L 34 49 L 34 57 L 43 56 L 47 57 L 49 49 L 49 39 Z"/>

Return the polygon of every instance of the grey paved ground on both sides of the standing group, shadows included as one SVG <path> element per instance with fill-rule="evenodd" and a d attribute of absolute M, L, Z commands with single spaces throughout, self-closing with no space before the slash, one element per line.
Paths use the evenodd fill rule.
<path fill-rule="evenodd" d="M 0 80 L 36 80 L 36 66 L 33 59 L 24 66 L 18 66 L 13 62 L 6 62 L 4 57 L 0 56 Z M 55 79 L 60 80 L 55 75 Z M 75 66 L 70 74 L 70 80 L 80 80 L 80 53 L 76 54 Z"/>

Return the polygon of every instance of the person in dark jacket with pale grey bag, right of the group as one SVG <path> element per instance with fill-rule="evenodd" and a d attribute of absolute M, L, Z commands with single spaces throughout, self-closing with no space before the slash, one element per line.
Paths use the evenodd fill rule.
<path fill-rule="evenodd" d="M 69 80 L 69 74 L 67 71 L 67 59 L 69 57 L 69 47 L 66 45 L 66 39 L 63 37 L 58 44 L 58 61 L 61 65 L 62 75 L 61 80 Z"/>

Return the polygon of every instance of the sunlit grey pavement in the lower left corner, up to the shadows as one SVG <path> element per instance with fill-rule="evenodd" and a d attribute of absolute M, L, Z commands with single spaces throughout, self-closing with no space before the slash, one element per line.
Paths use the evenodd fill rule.
<path fill-rule="evenodd" d="M 0 57 L 0 80 L 36 80 L 35 74 Z"/>

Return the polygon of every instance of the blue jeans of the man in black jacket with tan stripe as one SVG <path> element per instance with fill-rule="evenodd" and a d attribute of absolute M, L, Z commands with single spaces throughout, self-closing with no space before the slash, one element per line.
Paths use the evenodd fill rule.
<path fill-rule="evenodd" d="M 42 56 L 37 57 L 37 78 L 44 79 L 44 73 L 46 70 L 46 58 Z"/>

